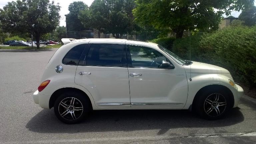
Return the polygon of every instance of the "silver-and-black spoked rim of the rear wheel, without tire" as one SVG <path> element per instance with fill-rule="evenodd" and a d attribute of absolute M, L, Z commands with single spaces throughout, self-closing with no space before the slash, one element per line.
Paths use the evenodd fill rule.
<path fill-rule="evenodd" d="M 76 120 L 83 113 L 82 103 L 74 97 L 67 97 L 59 103 L 59 114 L 66 120 Z"/>

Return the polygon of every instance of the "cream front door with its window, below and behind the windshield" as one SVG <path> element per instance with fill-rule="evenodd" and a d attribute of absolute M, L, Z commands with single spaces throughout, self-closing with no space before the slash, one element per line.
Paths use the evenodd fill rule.
<path fill-rule="evenodd" d="M 126 44 L 131 107 L 184 107 L 188 83 L 183 67 L 153 46 Z M 163 61 L 175 68 L 161 68 Z"/>

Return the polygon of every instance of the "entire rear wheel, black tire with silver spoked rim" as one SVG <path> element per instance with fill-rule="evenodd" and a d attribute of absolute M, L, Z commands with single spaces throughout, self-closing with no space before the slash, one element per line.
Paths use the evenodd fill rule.
<path fill-rule="evenodd" d="M 90 101 L 80 92 L 66 92 L 54 102 L 54 113 L 66 124 L 75 124 L 84 120 L 92 110 Z"/>

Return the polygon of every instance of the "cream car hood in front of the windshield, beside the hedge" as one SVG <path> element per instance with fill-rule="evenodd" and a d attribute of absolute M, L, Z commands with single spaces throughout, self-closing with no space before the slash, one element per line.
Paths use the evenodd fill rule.
<path fill-rule="evenodd" d="M 195 62 L 195 61 L 192 61 L 192 62 L 193 63 L 191 65 L 188 65 L 188 66 L 184 65 L 186 73 L 190 73 L 190 71 L 191 73 L 229 73 L 228 70 L 219 66 L 201 63 L 201 62 Z"/>

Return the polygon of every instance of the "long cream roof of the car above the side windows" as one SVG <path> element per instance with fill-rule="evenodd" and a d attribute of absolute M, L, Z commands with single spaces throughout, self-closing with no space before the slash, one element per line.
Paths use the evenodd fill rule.
<path fill-rule="evenodd" d="M 81 41 L 90 41 L 90 42 L 136 42 L 137 44 L 149 44 L 149 45 L 154 45 L 156 46 L 157 44 L 151 43 L 151 42 L 145 42 L 145 41 L 135 41 L 135 40 L 127 40 L 127 39 L 112 39 L 112 38 L 88 38 L 88 39 L 77 39 L 71 41 L 73 42 L 81 42 Z"/>

